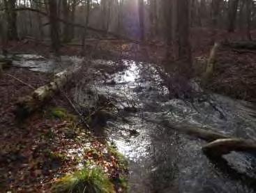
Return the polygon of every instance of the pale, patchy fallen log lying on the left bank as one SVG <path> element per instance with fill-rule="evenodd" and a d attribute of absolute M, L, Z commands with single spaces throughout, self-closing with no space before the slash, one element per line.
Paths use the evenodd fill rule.
<path fill-rule="evenodd" d="M 54 93 L 57 93 L 65 84 L 73 77 L 73 75 L 78 72 L 80 68 L 67 69 L 63 72 L 59 72 L 55 75 L 55 78 L 49 84 L 45 86 L 40 86 L 31 95 L 20 98 L 16 102 L 16 108 L 14 114 L 18 121 L 22 121 L 27 118 L 29 114 L 40 109 L 43 103 L 52 98 Z"/>

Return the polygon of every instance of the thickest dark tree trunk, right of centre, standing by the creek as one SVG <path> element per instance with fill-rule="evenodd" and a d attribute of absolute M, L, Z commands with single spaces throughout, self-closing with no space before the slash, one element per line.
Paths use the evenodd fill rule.
<path fill-rule="evenodd" d="M 190 47 L 190 8 L 189 0 L 179 0 L 178 4 L 178 34 L 179 34 L 179 59 L 191 64 Z M 188 68 L 188 66 L 184 67 Z"/>

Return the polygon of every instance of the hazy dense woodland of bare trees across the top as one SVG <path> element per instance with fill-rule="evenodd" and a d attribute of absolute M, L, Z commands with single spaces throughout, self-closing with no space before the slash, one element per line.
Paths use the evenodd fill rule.
<path fill-rule="evenodd" d="M 127 38 L 179 43 L 179 55 L 189 54 L 192 28 L 239 31 L 251 40 L 256 26 L 253 0 L 1 0 L 1 38 L 18 40 L 28 36 L 52 39 L 57 51 L 61 43 L 84 38 Z M 89 30 L 89 31 L 88 31 Z M 110 35 L 110 36 L 107 36 Z M 197 34 L 200 36 L 200 34 Z M 183 53 L 184 52 L 184 53 Z"/>

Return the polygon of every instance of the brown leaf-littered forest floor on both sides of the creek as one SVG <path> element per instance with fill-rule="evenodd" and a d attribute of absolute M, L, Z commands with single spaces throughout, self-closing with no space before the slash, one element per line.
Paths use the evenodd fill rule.
<path fill-rule="evenodd" d="M 199 31 L 193 33 L 193 45 L 197 45 L 193 47 L 193 57 L 209 56 L 211 38 L 206 32 L 200 37 L 196 36 Z M 223 34 L 218 36 L 229 37 L 228 34 Z M 29 39 L 9 43 L 7 49 L 10 53 L 27 52 L 43 56 L 52 54 L 49 45 Z M 79 56 L 80 49 L 79 45 L 64 45 L 60 54 Z M 166 49 L 161 42 L 138 46 L 125 40 L 99 42 L 91 39 L 87 41 L 84 54 L 91 59 L 132 59 L 163 63 L 167 55 Z M 173 52 L 169 57 L 175 61 L 176 51 Z M 26 84 L 8 75 L 21 79 Z M 0 190 L 47 192 L 59 176 L 75 171 L 77 164 L 84 158 L 103 167 L 112 180 L 126 173 L 126 168 L 112 148 L 104 140 L 84 130 L 84 125 L 77 124 L 76 116 L 73 115 L 75 112 L 70 108 L 67 98 L 61 94 L 47 103 L 43 111 L 29 117 L 24 124 L 20 125 L 15 121 L 13 110 L 18 98 L 31 93 L 31 87 L 38 88 L 50 79 L 51 75 L 31 72 L 24 68 L 13 67 L 4 70 L 0 79 Z M 221 47 L 217 53 L 213 78 L 206 88 L 216 93 L 256 102 L 255 79 L 255 51 L 240 52 L 237 49 Z M 122 186 L 117 186 L 116 190 L 121 192 Z"/>

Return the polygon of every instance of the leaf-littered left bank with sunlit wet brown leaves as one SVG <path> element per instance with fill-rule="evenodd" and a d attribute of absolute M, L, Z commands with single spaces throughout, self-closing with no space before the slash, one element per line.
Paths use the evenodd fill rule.
<path fill-rule="evenodd" d="M 26 121 L 15 118 L 17 100 L 51 79 L 52 75 L 25 68 L 4 70 L 0 79 L 0 192 L 50 192 L 58 178 L 82 165 L 100 166 L 116 192 L 123 192 L 127 161 L 114 144 L 80 123 L 66 98 L 73 95 L 70 85 L 64 88 L 65 95 L 57 94 Z"/>

